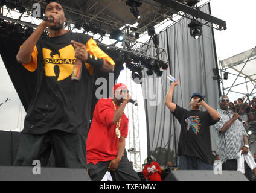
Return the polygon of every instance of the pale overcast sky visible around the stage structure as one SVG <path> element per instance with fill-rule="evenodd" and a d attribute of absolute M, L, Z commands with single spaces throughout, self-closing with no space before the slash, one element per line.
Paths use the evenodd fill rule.
<path fill-rule="evenodd" d="M 210 2 L 212 15 L 226 21 L 227 26 L 226 30 L 214 30 L 217 58 L 223 60 L 254 48 L 256 46 L 256 1 L 211 0 Z M 126 83 L 126 74 L 129 74 L 129 72 L 121 71 L 121 78 L 118 81 Z M 127 78 L 129 79 L 129 77 Z M 230 84 L 232 80 L 234 78 L 229 75 L 229 79 L 224 81 L 224 84 Z M 138 85 L 135 85 L 135 87 L 136 92 L 134 93 L 138 93 L 139 95 L 139 92 L 141 92 L 140 87 Z M 238 89 L 245 89 L 245 86 Z M 236 100 L 238 97 L 241 97 L 241 95 L 234 93 L 230 93 L 229 95 L 231 101 Z M 16 128 L 20 130 L 24 125 L 25 112 L 0 57 L 0 104 L 7 98 L 11 100 L 0 106 L 0 130 L 15 130 Z M 146 119 L 143 100 L 141 98 L 138 98 L 138 109 L 141 162 L 143 162 L 147 157 L 147 141 Z M 127 113 L 127 108 L 125 112 Z M 128 144 L 126 148 L 129 148 L 129 139 L 127 139 L 126 144 Z"/>

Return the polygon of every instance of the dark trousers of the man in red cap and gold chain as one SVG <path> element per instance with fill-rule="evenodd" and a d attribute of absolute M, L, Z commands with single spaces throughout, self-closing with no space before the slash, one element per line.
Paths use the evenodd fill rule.
<path fill-rule="evenodd" d="M 88 164 L 88 174 L 92 181 L 101 181 L 106 174 L 107 167 L 110 161 L 98 162 L 96 165 L 93 163 Z M 110 171 L 112 179 L 114 181 L 141 181 L 138 174 L 134 171 L 132 163 L 129 162 L 127 156 L 124 155 L 119 162 L 119 165 L 115 171 Z"/>

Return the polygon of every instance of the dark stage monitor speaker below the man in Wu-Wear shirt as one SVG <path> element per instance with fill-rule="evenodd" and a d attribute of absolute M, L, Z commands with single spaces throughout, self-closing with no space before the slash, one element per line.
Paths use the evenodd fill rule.
<path fill-rule="evenodd" d="M 36 170 L 36 169 L 34 169 Z M 39 172 L 39 170 L 36 170 Z M 0 166 L 0 181 L 91 181 L 86 169 Z"/>

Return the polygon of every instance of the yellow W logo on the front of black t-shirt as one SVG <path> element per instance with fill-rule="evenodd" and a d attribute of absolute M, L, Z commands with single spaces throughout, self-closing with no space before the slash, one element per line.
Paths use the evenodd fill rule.
<path fill-rule="evenodd" d="M 72 74 L 73 64 L 75 63 L 75 49 L 72 45 L 68 45 L 57 52 L 43 48 L 43 62 L 45 63 L 45 75 L 48 77 L 56 77 L 54 66 L 59 66 L 59 77 L 57 81 L 63 80 Z"/>

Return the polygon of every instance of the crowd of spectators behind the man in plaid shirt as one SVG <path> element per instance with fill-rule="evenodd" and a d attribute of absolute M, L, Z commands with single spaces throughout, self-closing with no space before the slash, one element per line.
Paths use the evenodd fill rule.
<path fill-rule="evenodd" d="M 246 125 L 256 124 L 256 97 L 249 96 L 238 98 L 236 101 L 229 102 L 229 110 L 234 113 L 238 113 Z"/>

